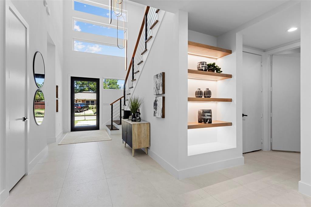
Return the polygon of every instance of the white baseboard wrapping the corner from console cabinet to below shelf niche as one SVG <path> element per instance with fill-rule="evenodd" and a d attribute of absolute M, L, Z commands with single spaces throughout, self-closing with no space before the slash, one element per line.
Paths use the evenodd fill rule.
<path fill-rule="evenodd" d="M 193 168 L 177 170 L 171 164 L 169 164 L 163 158 L 161 158 L 159 155 L 154 153 L 152 150 L 148 149 L 148 155 L 178 180 L 185 179 L 187 177 L 201 175 L 204 173 L 209 173 L 209 172 L 220 170 L 220 169 L 230 168 L 230 167 L 234 167 L 238 165 L 244 165 L 244 157 L 242 156 L 242 157 L 238 157 L 234 159 L 223 160 L 223 161 L 216 162 L 216 163 L 200 165 L 200 166 L 196 166 Z"/>

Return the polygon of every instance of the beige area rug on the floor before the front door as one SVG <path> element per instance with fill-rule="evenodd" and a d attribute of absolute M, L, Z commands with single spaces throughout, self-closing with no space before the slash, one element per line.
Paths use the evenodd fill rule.
<path fill-rule="evenodd" d="M 67 132 L 58 145 L 111 140 L 106 130 Z"/>

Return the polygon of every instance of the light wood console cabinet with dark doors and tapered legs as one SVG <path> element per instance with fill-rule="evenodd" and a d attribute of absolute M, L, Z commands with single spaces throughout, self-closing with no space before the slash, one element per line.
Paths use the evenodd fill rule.
<path fill-rule="evenodd" d="M 147 147 L 150 147 L 150 123 L 122 119 L 122 139 L 124 147 L 128 144 L 132 148 L 132 156 L 134 156 L 135 149 L 140 148 L 145 148 L 147 154 Z"/>

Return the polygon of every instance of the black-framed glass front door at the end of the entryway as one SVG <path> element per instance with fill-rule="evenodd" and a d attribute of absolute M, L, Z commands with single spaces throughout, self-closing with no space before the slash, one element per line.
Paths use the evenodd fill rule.
<path fill-rule="evenodd" d="M 71 131 L 99 130 L 98 78 L 71 77 Z"/>

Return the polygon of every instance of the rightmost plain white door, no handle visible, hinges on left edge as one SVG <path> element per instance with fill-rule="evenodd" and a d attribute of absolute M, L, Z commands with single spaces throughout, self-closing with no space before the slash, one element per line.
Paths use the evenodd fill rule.
<path fill-rule="evenodd" d="M 272 56 L 272 150 L 300 152 L 300 53 Z"/>

